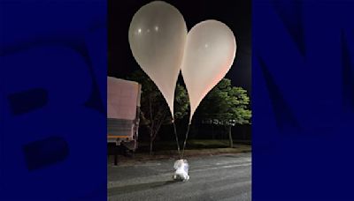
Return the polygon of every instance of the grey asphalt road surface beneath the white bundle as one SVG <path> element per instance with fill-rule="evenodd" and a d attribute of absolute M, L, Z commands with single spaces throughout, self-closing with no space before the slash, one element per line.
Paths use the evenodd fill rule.
<path fill-rule="evenodd" d="M 251 200 L 250 153 L 188 160 L 188 182 L 173 182 L 174 160 L 108 165 L 109 200 Z"/>

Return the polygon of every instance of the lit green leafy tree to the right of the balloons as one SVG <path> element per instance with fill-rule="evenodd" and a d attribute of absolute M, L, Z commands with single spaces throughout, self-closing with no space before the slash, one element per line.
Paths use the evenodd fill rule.
<path fill-rule="evenodd" d="M 231 80 L 223 78 L 208 95 L 205 96 L 198 108 L 198 114 L 206 119 L 216 119 L 225 125 L 228 131 L 230 147 L 233 147 L 231 128 L 237 124 L 249 124 L 250 98 L 242 87 L 231 85 Z"/>

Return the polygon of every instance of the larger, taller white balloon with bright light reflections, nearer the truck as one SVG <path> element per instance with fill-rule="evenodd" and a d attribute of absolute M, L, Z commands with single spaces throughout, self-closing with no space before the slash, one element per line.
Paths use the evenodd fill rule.
<path fill-rule="evenodd" d="M 137 11 L 129 27 L 133 56 L 163 94 L 173 116 L 174 89 L 181 70 L 187 26 L 173 5 L 155 1 Z"/>

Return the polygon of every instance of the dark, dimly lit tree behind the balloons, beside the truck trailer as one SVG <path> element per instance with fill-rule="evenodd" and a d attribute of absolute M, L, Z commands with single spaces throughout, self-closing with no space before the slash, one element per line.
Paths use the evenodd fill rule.
<path fill-rule="evenodd" d="M 172 123 L 170 109 L 158 87 L 145 72 L 135 71 L 128 79 L 142 85 L 141 124 L 150 130 L 150 154 L 152 154 L 152 146 L 161 125 Z M 181 119 L 188 113 L 188 93 L 183 86 L 177 84 L 174 94 L 174 119 Z"/>

